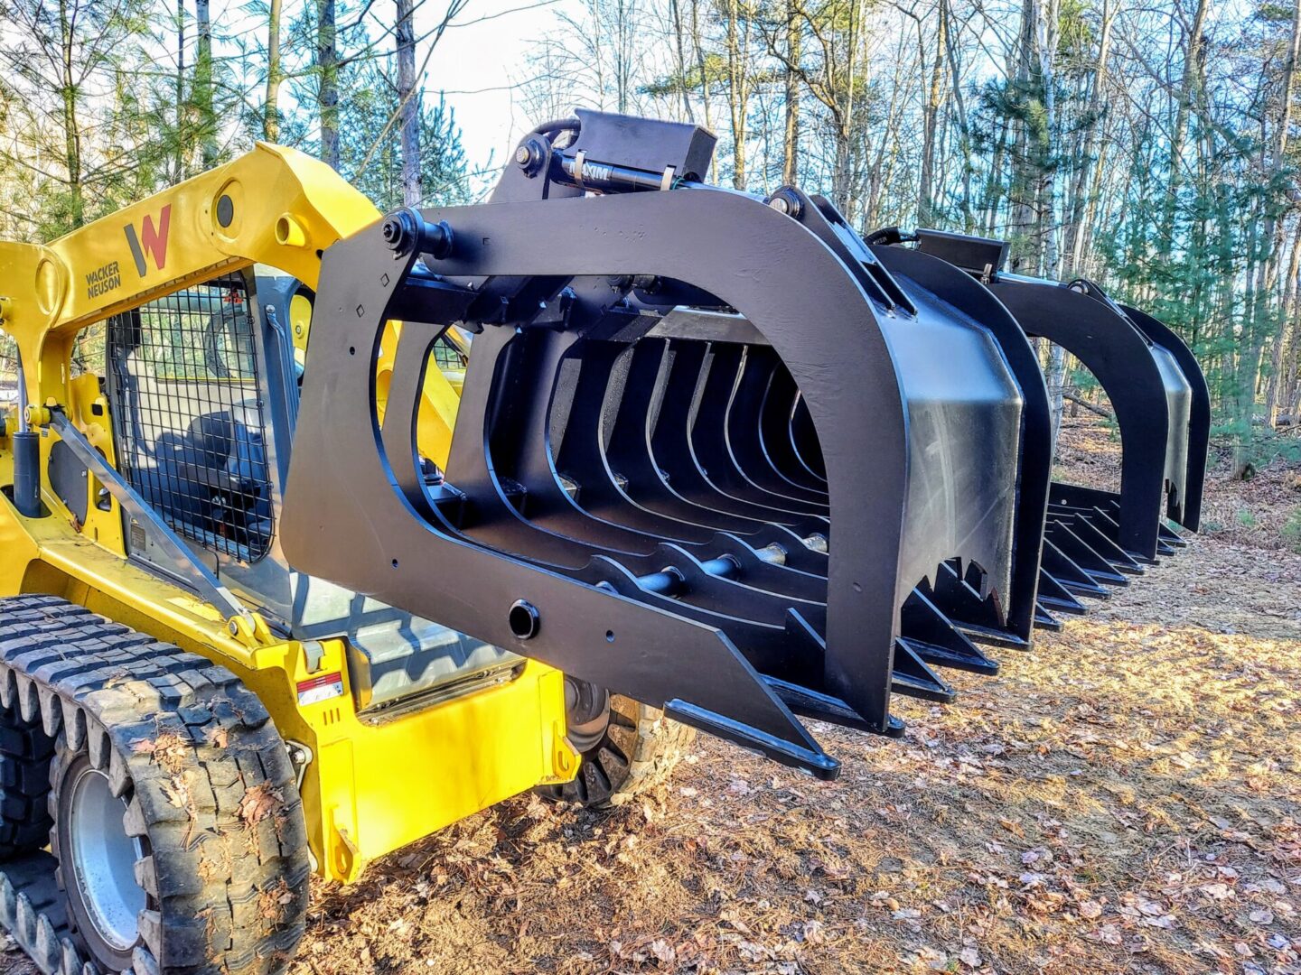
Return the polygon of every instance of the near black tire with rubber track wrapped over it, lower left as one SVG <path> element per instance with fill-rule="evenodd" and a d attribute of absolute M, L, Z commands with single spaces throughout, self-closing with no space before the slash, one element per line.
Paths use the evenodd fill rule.
<path fill-rule="evenodd" d="M 127 831 L 148 837 L 137 975 L 288 966 L 307 907 L 302 803 L 267 710 L 233 673 L 57 597 L 13 597 L 0 599 L 0 706 L 56 740 L 53 783 L 85 751 L 130 797 Z M 48 803 L 53 815 L 53 792 Z M 46 975 L 90 975 L 56 846 L 0 863 L 0 923 Z"/>

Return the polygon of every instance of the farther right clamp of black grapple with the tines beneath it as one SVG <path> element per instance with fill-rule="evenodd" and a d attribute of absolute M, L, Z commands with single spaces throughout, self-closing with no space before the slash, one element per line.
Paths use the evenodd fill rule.
<path fill-rule="evenodd" d="M 1060 283 L 1003 272 L 1003 242 L 919 230 L 917 250 L 981 278 L 1026 335 L 1075 355 L 1115 410 L 1120 490 L 1053 482 L 1039 603 L 1079 612 L 1075 597 L 1106 597 L 1110 586 L 1127 585 L 1144 566 L 1185 546 L 1167 520 L 1197 530 L 1210 437 L 1206 378 L 1188 346 L 1092 281 Z"/>

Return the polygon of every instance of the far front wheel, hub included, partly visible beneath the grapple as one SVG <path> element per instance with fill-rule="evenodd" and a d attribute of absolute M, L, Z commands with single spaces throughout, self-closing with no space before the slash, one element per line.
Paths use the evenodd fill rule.
<path fill-rule="evenodd" d="M 537 793 L 584 807 L 608 809 L 665 781 L 696 736 L 695 728 L 585 680 L 565 677 L 570 744 L 582 755 L 574 781 Z"/>

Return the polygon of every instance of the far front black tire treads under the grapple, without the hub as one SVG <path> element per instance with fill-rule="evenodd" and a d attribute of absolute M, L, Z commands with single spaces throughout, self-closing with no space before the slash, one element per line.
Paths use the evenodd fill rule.
<path fill-rule="evenodd" d="M 605 729 L 582 753 L 574 781 L 537 792 L 588 809 L 619 806 L 665 781 L 695 737 L 695 728 L 665 718 L 658 707 L 610 694 Z"/>

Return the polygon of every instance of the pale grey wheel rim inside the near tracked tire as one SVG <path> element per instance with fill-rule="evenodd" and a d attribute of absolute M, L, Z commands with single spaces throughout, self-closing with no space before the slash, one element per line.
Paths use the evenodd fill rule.
<path fill-rule="evenodd" d="M 68 855 L 88 920 L 118 952 L 135 944 L 137 918 L 146 906 L 144 890 L 135 883 L 141 842 L 126 835 L 125 812 L 126 803 L 113 796 L 108 776 L 94 767 L 82 768 L 72 783 L 68 806 Z"/>

